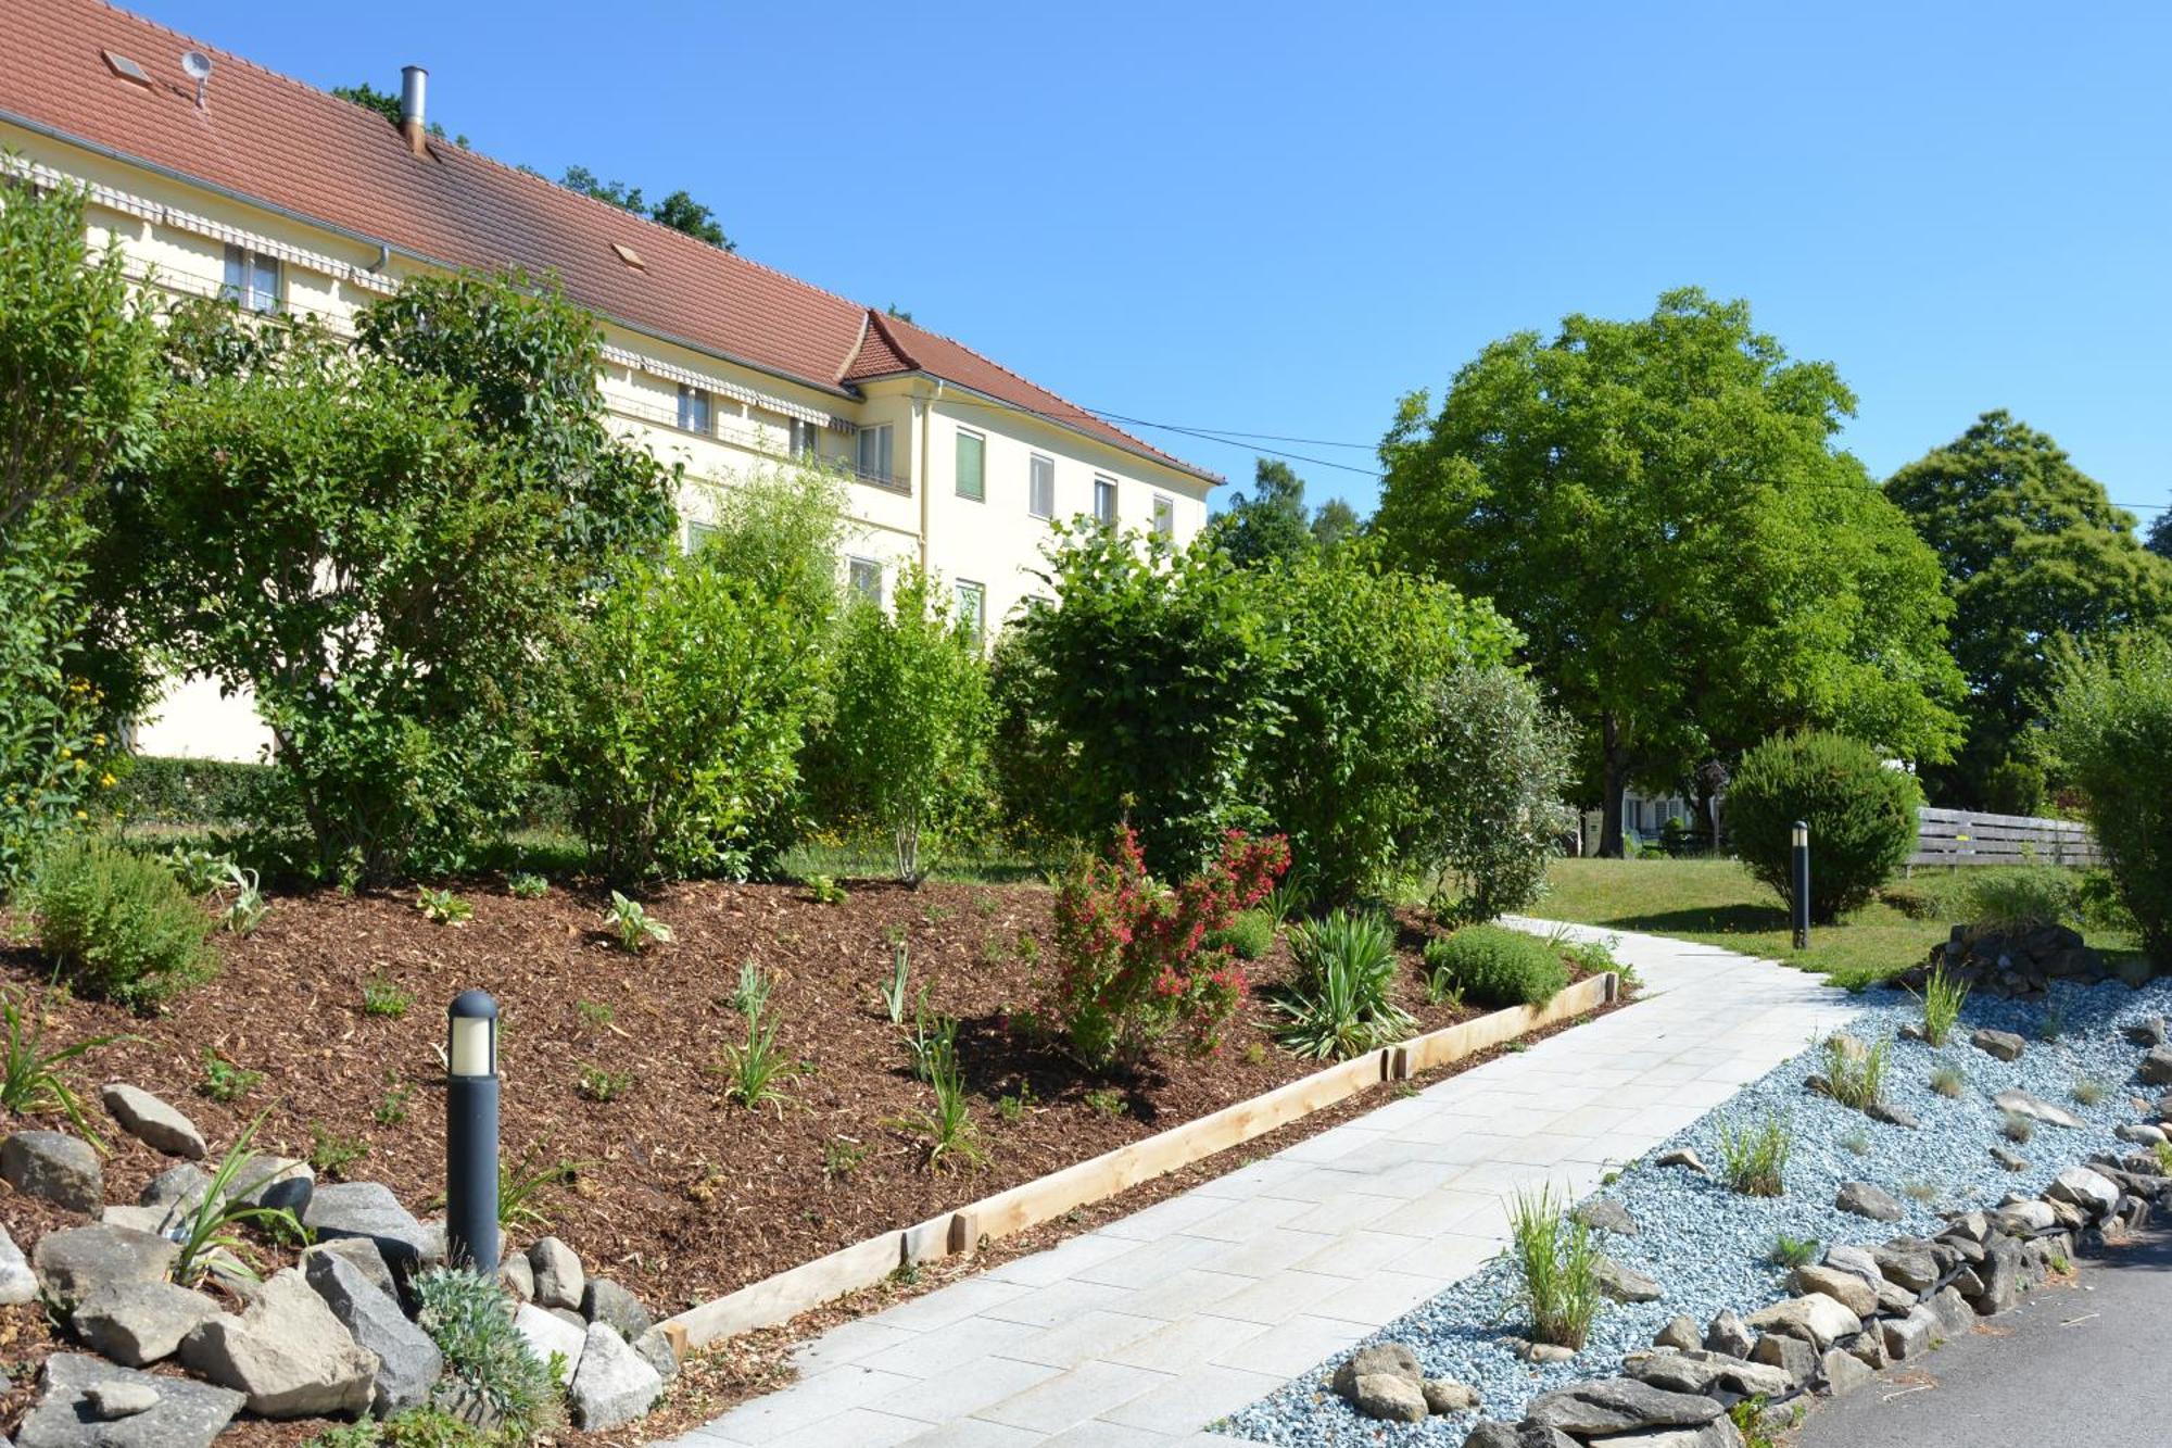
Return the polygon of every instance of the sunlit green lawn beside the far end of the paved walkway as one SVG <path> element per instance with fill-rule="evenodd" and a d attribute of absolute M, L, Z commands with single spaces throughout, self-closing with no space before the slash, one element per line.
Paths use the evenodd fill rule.
<path fill-rule="evenodd" d="M 1929 900 L 1931 920 L 1909 920 L 1872 902 L 1838 926 L 1814 926 L 1809 950 L 1796 952 L 1788 911 L 1770 889 L 1731 859 L 1562 859 L 1551 889 L 1529 909 L 1544 920 L 1677 935 L 1744 954 L 1759 954 L 1831 976 L 1859 989 L 1922 961 L 1966 913 L 1968 870 L 1918 870 L 1905 881 Z M 2089 931 L 2089 944 L 2131 950 L 2133 939 Z"/>

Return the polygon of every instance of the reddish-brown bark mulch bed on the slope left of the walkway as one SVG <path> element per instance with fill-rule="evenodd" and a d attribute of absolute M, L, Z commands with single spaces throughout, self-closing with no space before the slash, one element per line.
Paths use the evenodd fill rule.
<path fill-rule="evenodd" d="M 1249 968 L 1255 996 L 1214 1057 L 1171 1059 L 1103 1081 L 1034 1044 L 1010 1018 L 1036 1000 L 1049 954 L 1053 896 L 1038 885 L 906 889 L 867 881 L 851 883 L 841 904 L 819 904 L 795 885 L 675 885 L 647 900 L 675 939 L 641 957 L 613 946 L 597 920 L 602 900 L 584 889 L 554 887 L 541 900 L 487 887 L 463 896 L 473 920 L 460 926 L 428 922 L 411 891 L 278 898 L 254 937 L 222 939 L 217 981 L 176 998 L 163 1015 L 146 1020 L 54 996 L 46 1002 L 46 1041 L 132 1037 L 72 1072 L 93 1113 L 98 1083 L 128 1081 L 187 1111 L 213 1150 L 265 1113 L 261 1150 L 308 1157 L 332 1141 L 367 1146 L 343 1174 L 382 1181 L 426 1213 L 443 1189 L 443 1007 L 460 989 L 482 987 L 504 1020 L 508 1159 L 526 1152 L 536 1165 L 578 1163 L 569 1185 L 541 1198 L 550 1231 L 658 1318 L 1321 1068 L 1275 1048 L 1268 1035 L 1273 1013 L 1262 991 L 1290 970 L 1279 941 Z M 1405 1009 L 1427 1031 L 1473 1015 L 1425 1002 L 1425 920 L 1410 913 L 1399 924 Z M 897 1124 L 932 1104 L 877 996 L 899 939 L 910 952 L 914 994 L 925 985 L 932 1011 L 960 1020 L 958 1052 L 988 1152 L 980 1170 L 927 1170 L 923 1141 Z M 745 1041 L 730 996 L 749 959 L 778 981 L 771 1011 L 782 1022 L 780 1041 L 799 1061 L 784 1081 L 791 1104 L 782 1109 L 747 1111 L 723 1094 L 725 1048 Z M 0 981 L 37 987 L 43 978 L 33 950 L 0 948 Z M 365 1013 L 369 983 L 406 994 L 406 1013 Z M 215 1102 L 200 1089 L 206 1052 L 265 1078 L 241 1100 Z M 595 1100 L 602 1076 L 617 1087 L 608 1100 Z M 1019 1120 L 999 1118 L 999 1096 L 1025 1100 Z M 1116 1100 L 1121 1109 L 1112 1109 Z M 1373 1094 L 1347 1109 L 1368 1104 L 1377 1104 Z M 1223 1152 L 1221 1165 L 1149 1183 L 1119 1204 L 1075 1213 L 1075 1224 L 1001 1248 L 1036 1250 L 1101 1213 L 1119 1215 L 1232 1170 L 1342 1113 L 1316 1113 L 1264 1144 Z M 106 1200 L 135 1200 L 169 1163 L 117 1128 L 106 1135 Z M 4 1187 L 0 1213 L 26 1250 L 67 1215 Z M 541 1231 L 519 1231 L 517 1241 L 534 1235 Z M 940 1281 L 943 1272 L 925 1276 Z M 17 1374 L 46 1350 L 35 1313 L 0 1311 L 0 1363 Z M 823 1326 L 817 1313 L 808 1320 L 804 1331 Z M 784 1328 L 775 1337 L 791 1341 Z M 773 1359 L 756 1348 L 743 1346 L 741 1355 L 769 1365 L 743 1374 L 743 1387 L 760 1387 L 773 1372 Z M 673 1398 L 725 1400 L 732 1372 L 723 1372 L 723 1387 L 704 1378 L 721 1361 L 699 1361 Z M 4 1400 L 0 1431 L 13 1426 L 24 1396 L 17 1387 Z M 237 1431 L 237 1444 L 306 1437 L 295 1424 Z M 649 1424 L 643 1431 L 656 1435 Z"/>

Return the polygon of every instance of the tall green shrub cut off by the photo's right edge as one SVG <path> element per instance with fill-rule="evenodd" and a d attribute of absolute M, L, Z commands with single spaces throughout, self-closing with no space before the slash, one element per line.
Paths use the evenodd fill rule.
<path fill-rule="evenodd" d="M 2172 961 L 2172 641 L 2139 637 L 2066 667 L 2050 748 L 2142 931 Z"/>

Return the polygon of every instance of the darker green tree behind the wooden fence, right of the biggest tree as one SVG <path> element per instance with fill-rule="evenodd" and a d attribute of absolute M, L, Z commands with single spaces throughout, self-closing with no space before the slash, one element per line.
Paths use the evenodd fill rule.
<path fill-rule="evenodd" d="M 1937 550 L 1957 607 L 1968 744 L 1933 783 L 1981 804 L 2044 717 L 2068 646 L 2172 615 L 2172 563 L 2059 444 L 2005 411 L 1896 472 L 1885 496 Z"/>

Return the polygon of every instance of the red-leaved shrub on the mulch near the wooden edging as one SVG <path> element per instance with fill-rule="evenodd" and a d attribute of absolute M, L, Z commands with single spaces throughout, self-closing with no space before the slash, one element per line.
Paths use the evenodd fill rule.
<path fill-rule="evenodd" d="M 1208 937 L 1260 902 L 1290 865 L 1281 837 L 1223 837 L 1221 854 L 1177 887 L 1147 874 L 1132 826 L 1090 854 L 1056 894 L 1056 978 L 1047 1013 L 1086 1065 L 1132 1063 L 1182 1035 L 1192 1052 L 1221 1041 L 1245 998 L 1245 968 Z"/>

